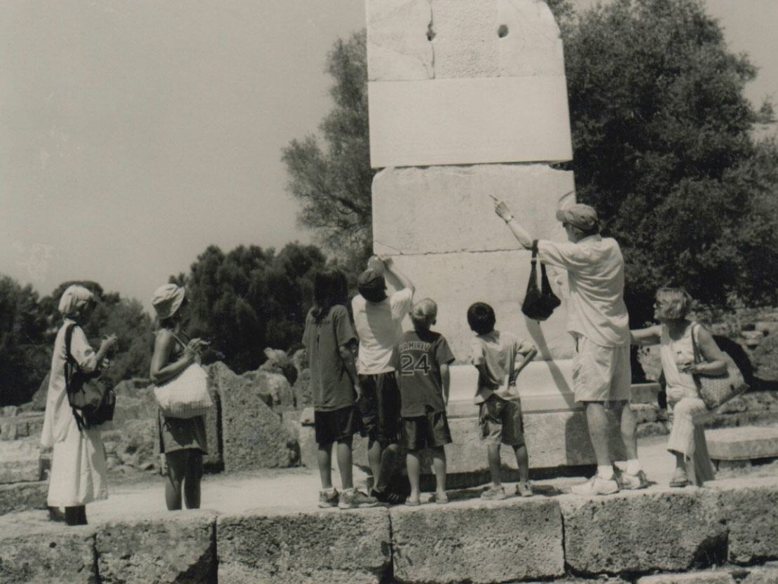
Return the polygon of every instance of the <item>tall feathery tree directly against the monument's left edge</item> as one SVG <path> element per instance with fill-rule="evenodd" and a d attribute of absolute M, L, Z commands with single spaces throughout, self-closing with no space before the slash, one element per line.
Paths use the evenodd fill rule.
<path fill-rule="evenodd" d="M 335 79 L 334 109 L 319 126 L 327 148 L 309 135 L 282 150 L 287 191 L 303 203 L 298 220 L 319 241 L 349 262 L 372 253 L 370 139 L 367 128 L 366 33 L 338 40 L 327 57 Z"/>

